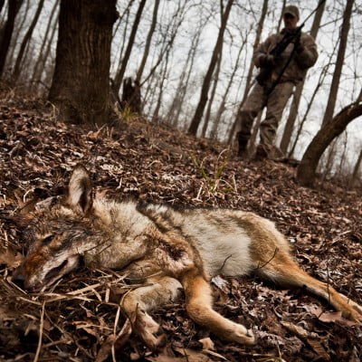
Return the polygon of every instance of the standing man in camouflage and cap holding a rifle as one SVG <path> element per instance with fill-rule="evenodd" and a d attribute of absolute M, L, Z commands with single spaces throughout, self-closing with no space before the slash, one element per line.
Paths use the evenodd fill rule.
<path fill-rule="evenodd" d="M 281 120 L 281 115 L 287 104 L 294 86 L 303 81 L 307 70 L 314 65 L 318 58 L 317 45 L 310 34 L 299 31 L 297 24 L 300 11 L 297 6 L 287 5 L 283 12 L 284 29 L 281 33 L 271 34 L 264 43 L 254 51 L 252 61 L 260 71 L 269 70 L 267 79 L 259 80 L 243 107 L 238 113 L 237 134 L 239 156 L 248 157 L 247 145 L 251 137 L 252 122 L 258 113 L 266 107 L 266 117 L 260 125 L 260 144 L 256 148 L 255 157 L 262 159 L 281 159 L 281 150 L 274 146 L 274 139 Z M 292 42 L 281 54 L 271 52 L 287 34 L 295 33 Z"/>

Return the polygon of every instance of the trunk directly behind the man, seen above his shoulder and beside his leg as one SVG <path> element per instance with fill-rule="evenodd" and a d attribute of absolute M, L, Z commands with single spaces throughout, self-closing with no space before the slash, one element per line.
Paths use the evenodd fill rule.
<path fill-rule="evenodd" d="M 322 18 L 323 12 L 324 12 L 325 5 L 326 5 L 326 2 L 323 2 L 322 5 L 319 6 L 319 9 L 317 10 L 317 12 L 314 16 L 313 24 L 311 25 L 310 35 L 314 39 L 317 38 L 320 20 Z M 287 122 L 285 123 L 285 128 L 284 128 L 283 135 L 281 138 L 281 151 L 284 154 L 287 153 L 289 144 L 291 143 L 291 134 L 293 133 L 295 120 L 297 119 L 298 109 L 300 107 L 301 92 L 303 91 L 304 82 L 305 81 L 301 81 L 300 84 L 298 84 L 295 89 L 293 100 L 291 102 L 291 110 L 290 110 Z"/>

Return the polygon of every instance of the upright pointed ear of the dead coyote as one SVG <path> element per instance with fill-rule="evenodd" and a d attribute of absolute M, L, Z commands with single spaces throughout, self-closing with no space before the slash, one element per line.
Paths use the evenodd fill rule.
<path fill-rule="evenodd" d="M 92 201 L 90 174 L 85 167 L 78 165 L 71 173 L 66 203 L 71 207 L 80 208 L 84 214 L 87 214 Z"/>

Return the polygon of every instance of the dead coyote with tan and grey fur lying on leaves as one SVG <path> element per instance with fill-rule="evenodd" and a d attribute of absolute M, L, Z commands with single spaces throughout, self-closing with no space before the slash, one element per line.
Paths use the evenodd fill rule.
<path fill-rule="evenodd" d="M 269 220 L 238 210 L 176 211 L 166 205 L 93 199 L 90 176 L 82 166 L 73 170 L 67 195 L 38 211 L 28 230 L 30 247 L 14 281 L 24 282 L 26 290 L 39 290 L 77 268 L 81 258 L 86 264 L 127 271 L 145 286 L 126 294 L 122 307 L 149 348 L 156 348 L 162 337 L 148 312 L 175 300 L 180 289 L 197 323 L 226 340 L 255 342 L 252 330 L 213 310 L 209 281 L 219 273 L 254 271 L 281 285 L 305 286 L 347 318 L 362 322 L 356 302 L 300 269 Z"/>

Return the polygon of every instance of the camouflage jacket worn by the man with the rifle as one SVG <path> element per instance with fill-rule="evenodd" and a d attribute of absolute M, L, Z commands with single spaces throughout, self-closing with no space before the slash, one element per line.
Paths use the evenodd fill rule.
<path fill-rule="evenodd" d="M 261 43 L 258 46 L 252 56 L 252 60 L 256 67 L 261 68 L 261 56 L 271 52 L 274 46 L 281 41 L 284 33 L 285 29 L 283 29 L 281 33 L 271 34 L 265 40 L 265 42 Z M 310 34 L 302 32 L 300 35 L 300 44 L 303 46 L 304 50 L 300 53 L 294 52 L 290 64 L 288 65 L 287 69 L 284 71 L 281 77 L 281 82 L 292 81 L 297 84 L 299 81 L 302 81 L 304 79 L 308 68 L 310 68 L 314 65 L 315 62 L 317 62 L 317 45 L 314 42 L 313 37 Z M 290 43 L 285 51 L 281 53 L 281 56 L 279 57 L 274 68 L 271 71 L 271 81 L 274 81 L 278 78 L 284 65 L 286 64 L 286 62 L 288 62 L 293 47 L 294 44 Z"/>

